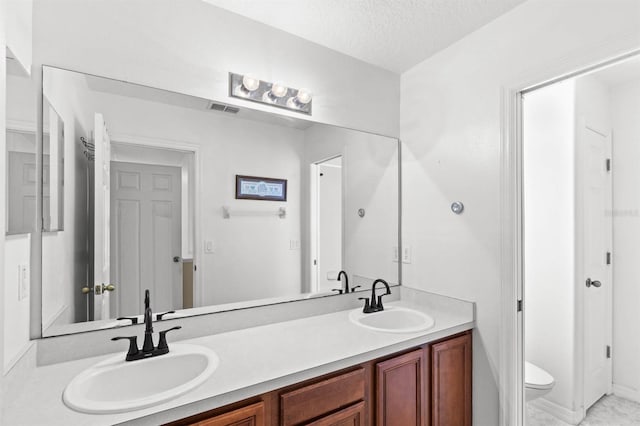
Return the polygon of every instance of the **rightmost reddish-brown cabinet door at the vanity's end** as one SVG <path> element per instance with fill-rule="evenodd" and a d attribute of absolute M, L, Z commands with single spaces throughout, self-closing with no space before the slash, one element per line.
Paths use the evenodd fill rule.
<path fill-rule="evenodd" d="M 471 334 L 431 350 L 433 426 L 471 426 Z"/>

